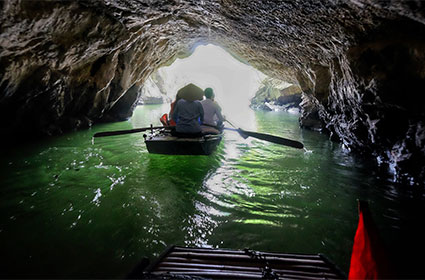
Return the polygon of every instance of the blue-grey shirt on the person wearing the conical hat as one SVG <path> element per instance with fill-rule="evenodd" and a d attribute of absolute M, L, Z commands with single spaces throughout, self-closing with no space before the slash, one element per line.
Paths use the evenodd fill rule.
<path fill-rule="evenodd" d="M 204 121 L 204 109 L 199 101 L 180 99 L 174 106 L 171 118 L 177 123 L 177 132 L 198 133 L 201 132 L 200 123 Z"/>

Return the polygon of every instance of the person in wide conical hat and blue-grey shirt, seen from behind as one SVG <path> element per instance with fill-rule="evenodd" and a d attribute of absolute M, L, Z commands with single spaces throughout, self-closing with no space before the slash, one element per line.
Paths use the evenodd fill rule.
<path fill-rule="evenodd" d="M 178 91 L 177 95 L 181 99 L 177 101 L 171 114 L 171 119 L 176 122 L 174 132 L 176 136 L 202 136 L 201 123 L 204 121 L 204 109 L 198 100 L 200 94 L 202 98 L 202 89 L 194 84 L 188 84 Z"/>

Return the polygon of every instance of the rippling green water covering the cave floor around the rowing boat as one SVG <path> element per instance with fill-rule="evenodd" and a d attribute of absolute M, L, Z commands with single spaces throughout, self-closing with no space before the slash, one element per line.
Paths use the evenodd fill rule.
<path fill-rule="evenodd" d="M 359 198 L 397 254 L 413 246 L 406 236 L 422 239 L 422 193 L 396 186 L 327 136 L 300 130 L 296 115 L 233 118 L 302 141 L 307 151 L 231 131 L 208 157 L 148 154 L 141 134 L 92 142 L 95 132 L 159 124 L 167 110 L 138 107 L 130 121 L 4 151 L 2 275 L 120 278 L 171 244 L 320 252 L 347 271 Z M 409 265 L 417 263 L 401 270 Z"/>

